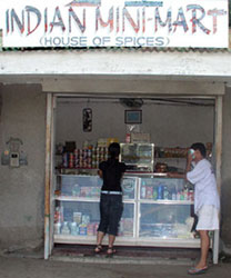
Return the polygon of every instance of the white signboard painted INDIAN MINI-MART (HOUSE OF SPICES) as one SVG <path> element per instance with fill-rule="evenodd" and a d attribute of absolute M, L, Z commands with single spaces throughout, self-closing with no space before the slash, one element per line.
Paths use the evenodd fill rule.
<path fill-rule="evenodd" d="M 9 0 L 4 48 L 228 48 L 228 0 Z"/>

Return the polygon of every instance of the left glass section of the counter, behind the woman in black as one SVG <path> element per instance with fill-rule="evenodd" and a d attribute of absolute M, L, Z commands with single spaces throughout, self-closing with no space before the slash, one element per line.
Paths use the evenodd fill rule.
<path fill-rule="evenodd" d="M 54 189 L 54 242 L 92 244 L 100 221 L 102 179 L 98 176 L 58 175 Z M 137 178 L 124 177 L 120 238 L 135 236 Z"/>

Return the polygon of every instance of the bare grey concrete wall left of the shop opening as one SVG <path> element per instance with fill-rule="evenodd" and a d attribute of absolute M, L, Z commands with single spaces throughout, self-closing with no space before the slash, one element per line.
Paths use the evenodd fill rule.
<path fill-rule="evenodd" d="M 13 138 L 23 141 L 28 166 L 0 165 L 0 248 L 32 247 L 43 241 L 46 95 L 40 86 L 1 90 L 0 150 Z"/>

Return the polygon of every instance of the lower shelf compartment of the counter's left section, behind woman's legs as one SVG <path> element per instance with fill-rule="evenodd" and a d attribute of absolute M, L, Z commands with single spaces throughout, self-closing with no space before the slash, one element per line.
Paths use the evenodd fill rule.
<path fill-rule="evenodd" d="M 60 201 L 56 203 L 54 216 L 54 241 L 97 236 L 100 221 L 99 201 Z M 119 236 L 134 237 L 134 203 L 124 202 L 123 214 L 120 221 Z M 89 238 L 90 239 L 90 238 Z"/>

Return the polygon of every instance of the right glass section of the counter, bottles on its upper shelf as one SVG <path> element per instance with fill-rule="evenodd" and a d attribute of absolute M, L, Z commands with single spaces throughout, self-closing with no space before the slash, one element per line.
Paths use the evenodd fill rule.
<path fill-rule="evenodd" d="M 193 190 L 183 179 L 140 178 L 138 235 L 149 238 L 192 240 Z"/>

